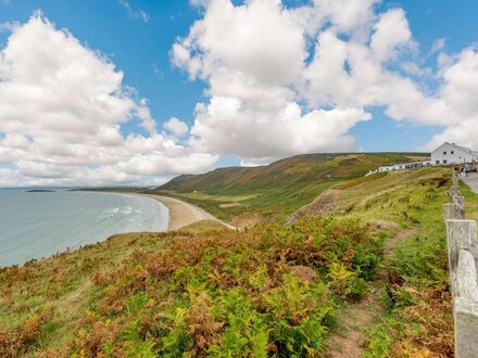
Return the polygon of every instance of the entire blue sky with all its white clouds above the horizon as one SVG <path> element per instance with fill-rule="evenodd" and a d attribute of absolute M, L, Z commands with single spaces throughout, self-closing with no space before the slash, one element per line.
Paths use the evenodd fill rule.
<path fill-rule="evenodd" d="M 475 0 L 0 0 L 0 187 L 478 149 Z"/>

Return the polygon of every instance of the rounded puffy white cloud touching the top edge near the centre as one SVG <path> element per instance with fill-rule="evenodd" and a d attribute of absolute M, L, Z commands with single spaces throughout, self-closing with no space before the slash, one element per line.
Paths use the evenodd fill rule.
<path fill-rule="evenodd" d="M 281 10 L 280 2 L 269 0 L 242 7 L 227 0 L 211 1 L 204 18 L 173 48 L 176 65 L 192 78 L 211 81 L 240 73 L 243 79 L 260 84 L 293 82 L 305 55 L 302 28 Z"/>

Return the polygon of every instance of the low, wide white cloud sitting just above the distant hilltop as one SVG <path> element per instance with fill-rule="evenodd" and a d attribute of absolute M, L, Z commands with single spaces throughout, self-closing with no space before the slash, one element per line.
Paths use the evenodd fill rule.
<path fill-rule="evenodd" d="M 252 158 L 277 158 L 295 153 L 348 151 L 355 148 L 347 132 L 370 118 L 362 110 L 315 110 L 303 114 L 297 103 L 281 112 L 244 110 L 242 102 L 214 97 L 199 104 L 192 143 L 200 151 Z M 262 162 L 262 161 L 260 161 Z"/>

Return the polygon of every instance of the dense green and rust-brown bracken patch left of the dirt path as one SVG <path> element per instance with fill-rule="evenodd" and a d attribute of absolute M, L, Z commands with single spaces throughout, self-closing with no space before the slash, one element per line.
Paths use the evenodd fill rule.
<path fill-rule="evenodd" d="M 379 239 L 356 219 L 304 218 L 176 235 L 97 272 L 74 357 L 303 357 L 324 349 L 335 301 L 366 291 Z"/>

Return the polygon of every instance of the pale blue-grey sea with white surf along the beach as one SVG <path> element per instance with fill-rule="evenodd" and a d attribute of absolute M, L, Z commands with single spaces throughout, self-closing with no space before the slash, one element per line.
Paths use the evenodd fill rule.
<path fill-rule="evenodd" d="M 0 190 L 0 267 L 24 264 L 123 232 L 165 231 L 168 210 L 139 195 Z"/>

